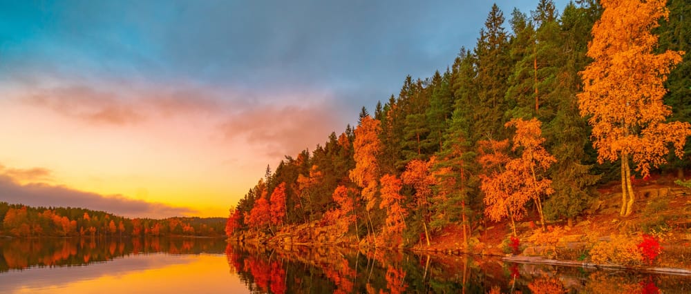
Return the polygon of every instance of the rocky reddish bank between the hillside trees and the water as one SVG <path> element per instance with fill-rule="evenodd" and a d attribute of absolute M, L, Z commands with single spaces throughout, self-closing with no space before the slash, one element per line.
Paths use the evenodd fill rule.
<path fill-rule="evenodd" d="M 616 183 L 612 184 L 614 186 Z M 442 255 L 473 255 L 500 257 L 505 262 L 526 264 L 551 264 L 556 266 L 570 266 L 583 268 L 596 268 L 605 271 L 637 271 L 641 273 L 658 273 L 668 275 L 691 275 L 691 234 L 688 227 L 691 215 L 688 210 L 680 210 L 676 204 L 688 202 L 691 189 L 677 186 L 669 179 L 656 177 L 654 181 L 640 184 L 645 197 L 640 199 L 642 208 L 640 217 L 627 219 L 627 222 L 618 221 L 618 193 L 608 193 L 610 188 L 601 188 L 598 200 L 593 204 L 580 222 L 569 228 L 566 223 L 556 224 L 549 222 L 548 227 L 556 239 L 546 240 L 540 229 L 536 229 L 534 222 L 536 215 L 532 215 L 526 222 L 518 224 L 520 239 L 526 240 L 520 244 L 518 252 L 512 252 L 511 245 L 505 240 L 511 236 L 511 228 L 508 222 L 490 224 L 489 228 L 481 229 L 473 239 L 477 239 L 472 248 L 463 248 L 462 233 L 460 228 L 452 226 L 446 231 L 435 234 L 433 239 L 439 240 L 426 246 L 421 237 L 413 246 L 369 246 L 366 242 L 357 242 L 350 237 L 333 237 L 328 231 L 336 228 L 320 226 L 319 222 L 312 224 L 300 224 L 284 226 L 276 231 L 275 235 L 256 232 L 245 232 L 231 235 L 227 242 L 235 244 L 251 244 L 251 246 L 265 246 L 267 248 L 281 248 L 281 250 L 300 251 L 301 247 L 319 248 L 321 246 L 350 248 L 355 250 L 384 250 L 384 251 L 408 251 L 416 254 L 435 253 Z M 672 195 L 672 196 L 670 196 Z M 671 197 L 672 199 L 660 199 L 659 197 Z M 674 206 L 667 206 L 664 210 L 656 211 L 654 215 L 647 211 L 656 201 L 670 202 Z M 688 206 L 688 203 L 685 204 Z M 681 226 L 676 229 L 667 229 L 661 233 L 662 249 L 654 263 L 645 264 L 642 258 L 633 255 L 630 259 L 621 259 L 616 262 L 593 262 L 588 252 L 596 244 L 609 244 L 612 239 L 618 237 L 621 231 L 641 226 L 650 226 L 658 217 L 665 219 L 679 215 Z M 683 219 L 686 219 L 685 221 Z M 685 226 L 685 229 L 683 229 Z M 635 230 L 634 230 L 635 231 Z M 635 234 L 634 234 L 635 235 Z M 542 242 L 535 239 L 542 238 Z"/>

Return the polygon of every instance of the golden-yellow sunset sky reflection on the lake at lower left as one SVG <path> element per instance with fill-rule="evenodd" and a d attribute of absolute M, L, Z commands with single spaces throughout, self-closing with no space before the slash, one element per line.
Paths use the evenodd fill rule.
<path fill-rule="evenodd" d="M 70 272 L 73 269 L 86 269 L 100 272 L 93 277 L 75 277 L 49 281 L 50 273 L 44 273 L 46 280 L 41 280 L 39 286 L 17 285 L 16 288 L 6 288 L 9 293 L 248 293 L 244 284 L 237 276 L 228 272 L 225 255 L 137 255 L 127 259 L 139 259 L 142 265 L 132 267 L 128 264 L 118 264 L 118 261 L 107 264 L 93 264 L 81 268 L 64 268 Z M 109 270 L 113 271 L 109 271 Z M 120 271 L 122 269 L 122 271 Z M 50 268 L 32 268 L 23 272 L 50 271 Z M 75 271 L 76 272 L 76 271 Z M 19 275 L 18 275 L 19 276 Z M 26 281 L 29 283 L 28 280 Z M 33 281 L 30 284 L 35 284 Z M 4 287 L 3 287 L 4 288 Z"/>

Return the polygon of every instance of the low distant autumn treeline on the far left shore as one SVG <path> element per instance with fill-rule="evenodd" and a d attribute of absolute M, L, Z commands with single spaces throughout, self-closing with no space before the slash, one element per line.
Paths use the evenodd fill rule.
<path fill-rule="evenodd" d="M 104 211 L 72 207 L 30 207 L 0 202 L 0 235 L 15 237 L 144 237 L 219 236 L 220 217 L 170 217 L 129 219 Z"/>

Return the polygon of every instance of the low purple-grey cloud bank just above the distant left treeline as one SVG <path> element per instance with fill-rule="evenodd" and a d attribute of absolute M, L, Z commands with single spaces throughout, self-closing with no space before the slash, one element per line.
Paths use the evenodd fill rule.
<path fill-rule="evenodd" d="M 187 207 L 176 207 L 168 204 L 129 199 L 122 195 L 100 195 L 44 183 L 19 184 L 15 176 L 45 175 L 44 168 L 21 170 L 5 168 L 0 175 L 0 195 L 2 201 L 10 204 L 28 206 L 62 206 L 80 207 L 92 210 L 103 210 L 125 217 L 173 217 L 194 215 L 199 212 Z M 50 173 L 48 173 L 50 175 Z"/>

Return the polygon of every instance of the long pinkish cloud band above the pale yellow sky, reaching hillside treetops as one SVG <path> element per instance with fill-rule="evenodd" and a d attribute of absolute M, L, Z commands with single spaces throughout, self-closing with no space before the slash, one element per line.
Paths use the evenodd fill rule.
<path fill-rule="evenodd" d="M 132 84 L 135 84 L 134 82 Z M 248 93 L 236 88 L 194 85 L 132 86 L 115 94 L 115 85 L 95 90 L 83 84 L 34 89 L 25 104 L 86 122 L 92 126 L 135 126 L 211 121 L 206 131 L 235 144 L 243 139 L 265 155 L 282 158 L 323 142 L 345 128 L 343 101 L 326 91 L 266 90 Z"/>

